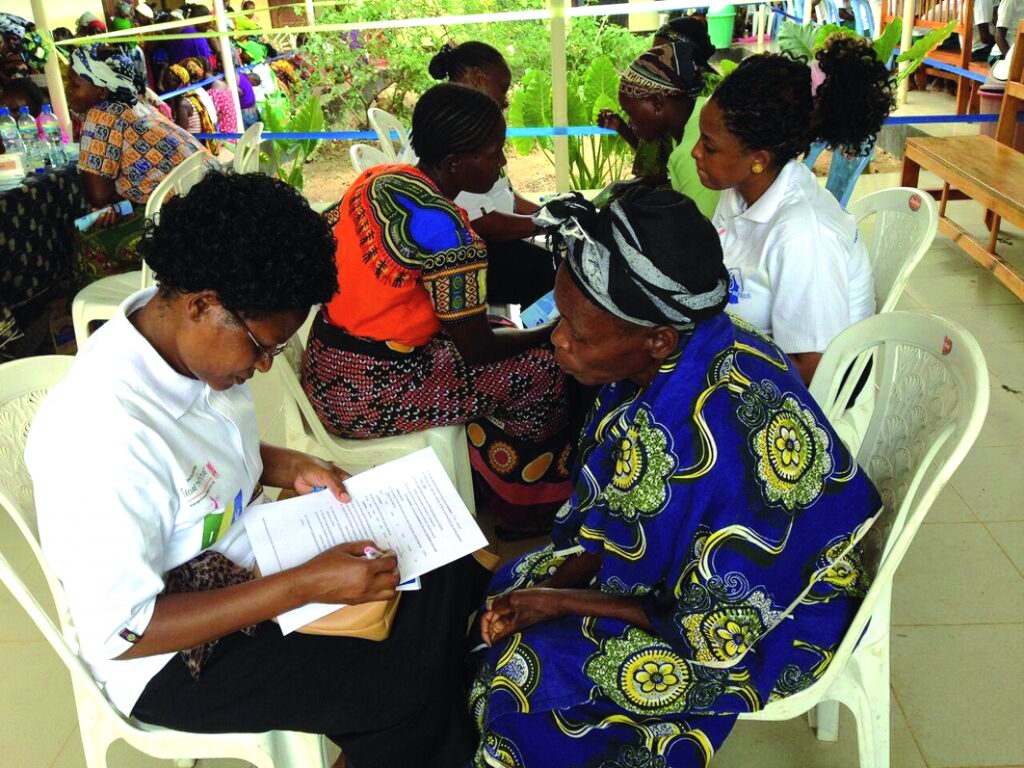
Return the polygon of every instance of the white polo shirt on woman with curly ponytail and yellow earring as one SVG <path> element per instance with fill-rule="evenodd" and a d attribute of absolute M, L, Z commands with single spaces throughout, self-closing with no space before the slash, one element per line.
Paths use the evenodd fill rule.
<path fill-rule="evenodd" d="M 822 352 L 874 312 L 874 282 L 853 216 L 791 160 L 750 208 L 722 193 L 712 222 L 729 270 L 726 309 L 788 353 Z"/>

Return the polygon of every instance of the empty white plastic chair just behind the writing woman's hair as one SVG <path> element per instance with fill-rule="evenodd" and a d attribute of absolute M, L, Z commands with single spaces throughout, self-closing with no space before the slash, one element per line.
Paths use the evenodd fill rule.
<path fill-rule="evenodd" d="M 177 168 L 167 174 L 153 190 L 145 204 L 145 217 L 155 219 L 164 201 L 173 191 L 184 195 L 206 174 L 210 156 L 205 152 L 190 155 Z M 75 295 L 71 303 L 72 325 L 79 347 L 89 338 L 89 325 L 114 316 L 121 303 L 136 291 L 153 285 L 153 274 L 145 262 L 138 271 L 112 274 L 90 283 Z"/>

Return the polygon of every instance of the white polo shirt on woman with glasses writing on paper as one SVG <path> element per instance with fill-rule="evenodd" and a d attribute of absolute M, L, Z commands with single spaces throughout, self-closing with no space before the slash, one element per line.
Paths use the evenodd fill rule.
<path fill-rule="evenodd" d="M 249 386 L 215 392 L 178 374 L 129 322 L 155 292 L 89 340 L 25 452 L 82 658 L 126 715 L 174 654 L 115 659 L 145 633 L 167 571 L 208 548 L 253 564 L 238 518 L 263 473 Z"/>

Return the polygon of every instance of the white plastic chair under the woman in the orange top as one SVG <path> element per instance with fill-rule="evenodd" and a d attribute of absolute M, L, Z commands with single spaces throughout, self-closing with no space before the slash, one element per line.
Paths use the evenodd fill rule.
<path fill-rule="evenodd" d="M 465 427 L 432 427 L 422 432 L 365 440 L 337 437 L 324 427 L 302 388 L 300 377 L 303 354 L 302 342 L 298 337 L 293 338 L 282 355 L 274 360 L 269 373 L 276 377 L 284 392 L 285 444 L 288 447 L 333 461 L 352 474 L 414 451 L 432 447 L 459 490 L 459 496 L 469 511 L 476 514 Z"/>

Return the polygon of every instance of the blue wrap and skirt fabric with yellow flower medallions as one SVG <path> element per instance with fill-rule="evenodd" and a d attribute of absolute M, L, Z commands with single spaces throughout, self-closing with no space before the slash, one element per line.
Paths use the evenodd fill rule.
<path fill-rule="evenodd" d="M 736 716 L 821 676 L 866 593 L 861 538 L 882 503 L 769 340 L 721 314 L 653 382 L 604 387 L 553 542 L 497 596 L 582 548 L 618 620 L 535 625 L 483 652 L 477 766 L 705 766 Z"/>

